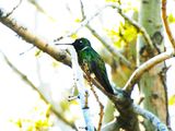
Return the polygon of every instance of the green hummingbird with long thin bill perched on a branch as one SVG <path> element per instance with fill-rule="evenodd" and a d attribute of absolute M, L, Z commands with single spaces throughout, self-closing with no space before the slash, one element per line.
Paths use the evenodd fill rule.
<path fill-rule="evenodd" d="M 104 87 L 107 93 L 114 94 L 114 90 L 109 83 L 105 62 L 101 56 L 92 48 L 91 43 L 86 38 L 75 39 L 72 45 L 78 53 L 78 62 L 88 76 L 94 75 L 94 79 Z"/>

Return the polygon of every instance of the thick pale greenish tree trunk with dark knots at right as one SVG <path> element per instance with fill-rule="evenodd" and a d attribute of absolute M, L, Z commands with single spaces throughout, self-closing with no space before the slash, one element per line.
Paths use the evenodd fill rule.
<path fill-rule="evenodd" d="M 137 44 L 138 64 L 145 62 L 153 56 L 164 51 L 163 26 L 161 20 L 161 0 L 141 0 L 139 23 L 150 35 L 154 49 L 145 46 L 145 41 L 139 37 Z M 144 94 L 143 106 L 156 115 L 163 122 L 167 122 L 167 97 L 165 85 L 165 63 L 162 62 L 144 73 L 139 82 L 139 87 Z M 147 131 L 154 131 L 153 127 L 145 121 Z"/>

